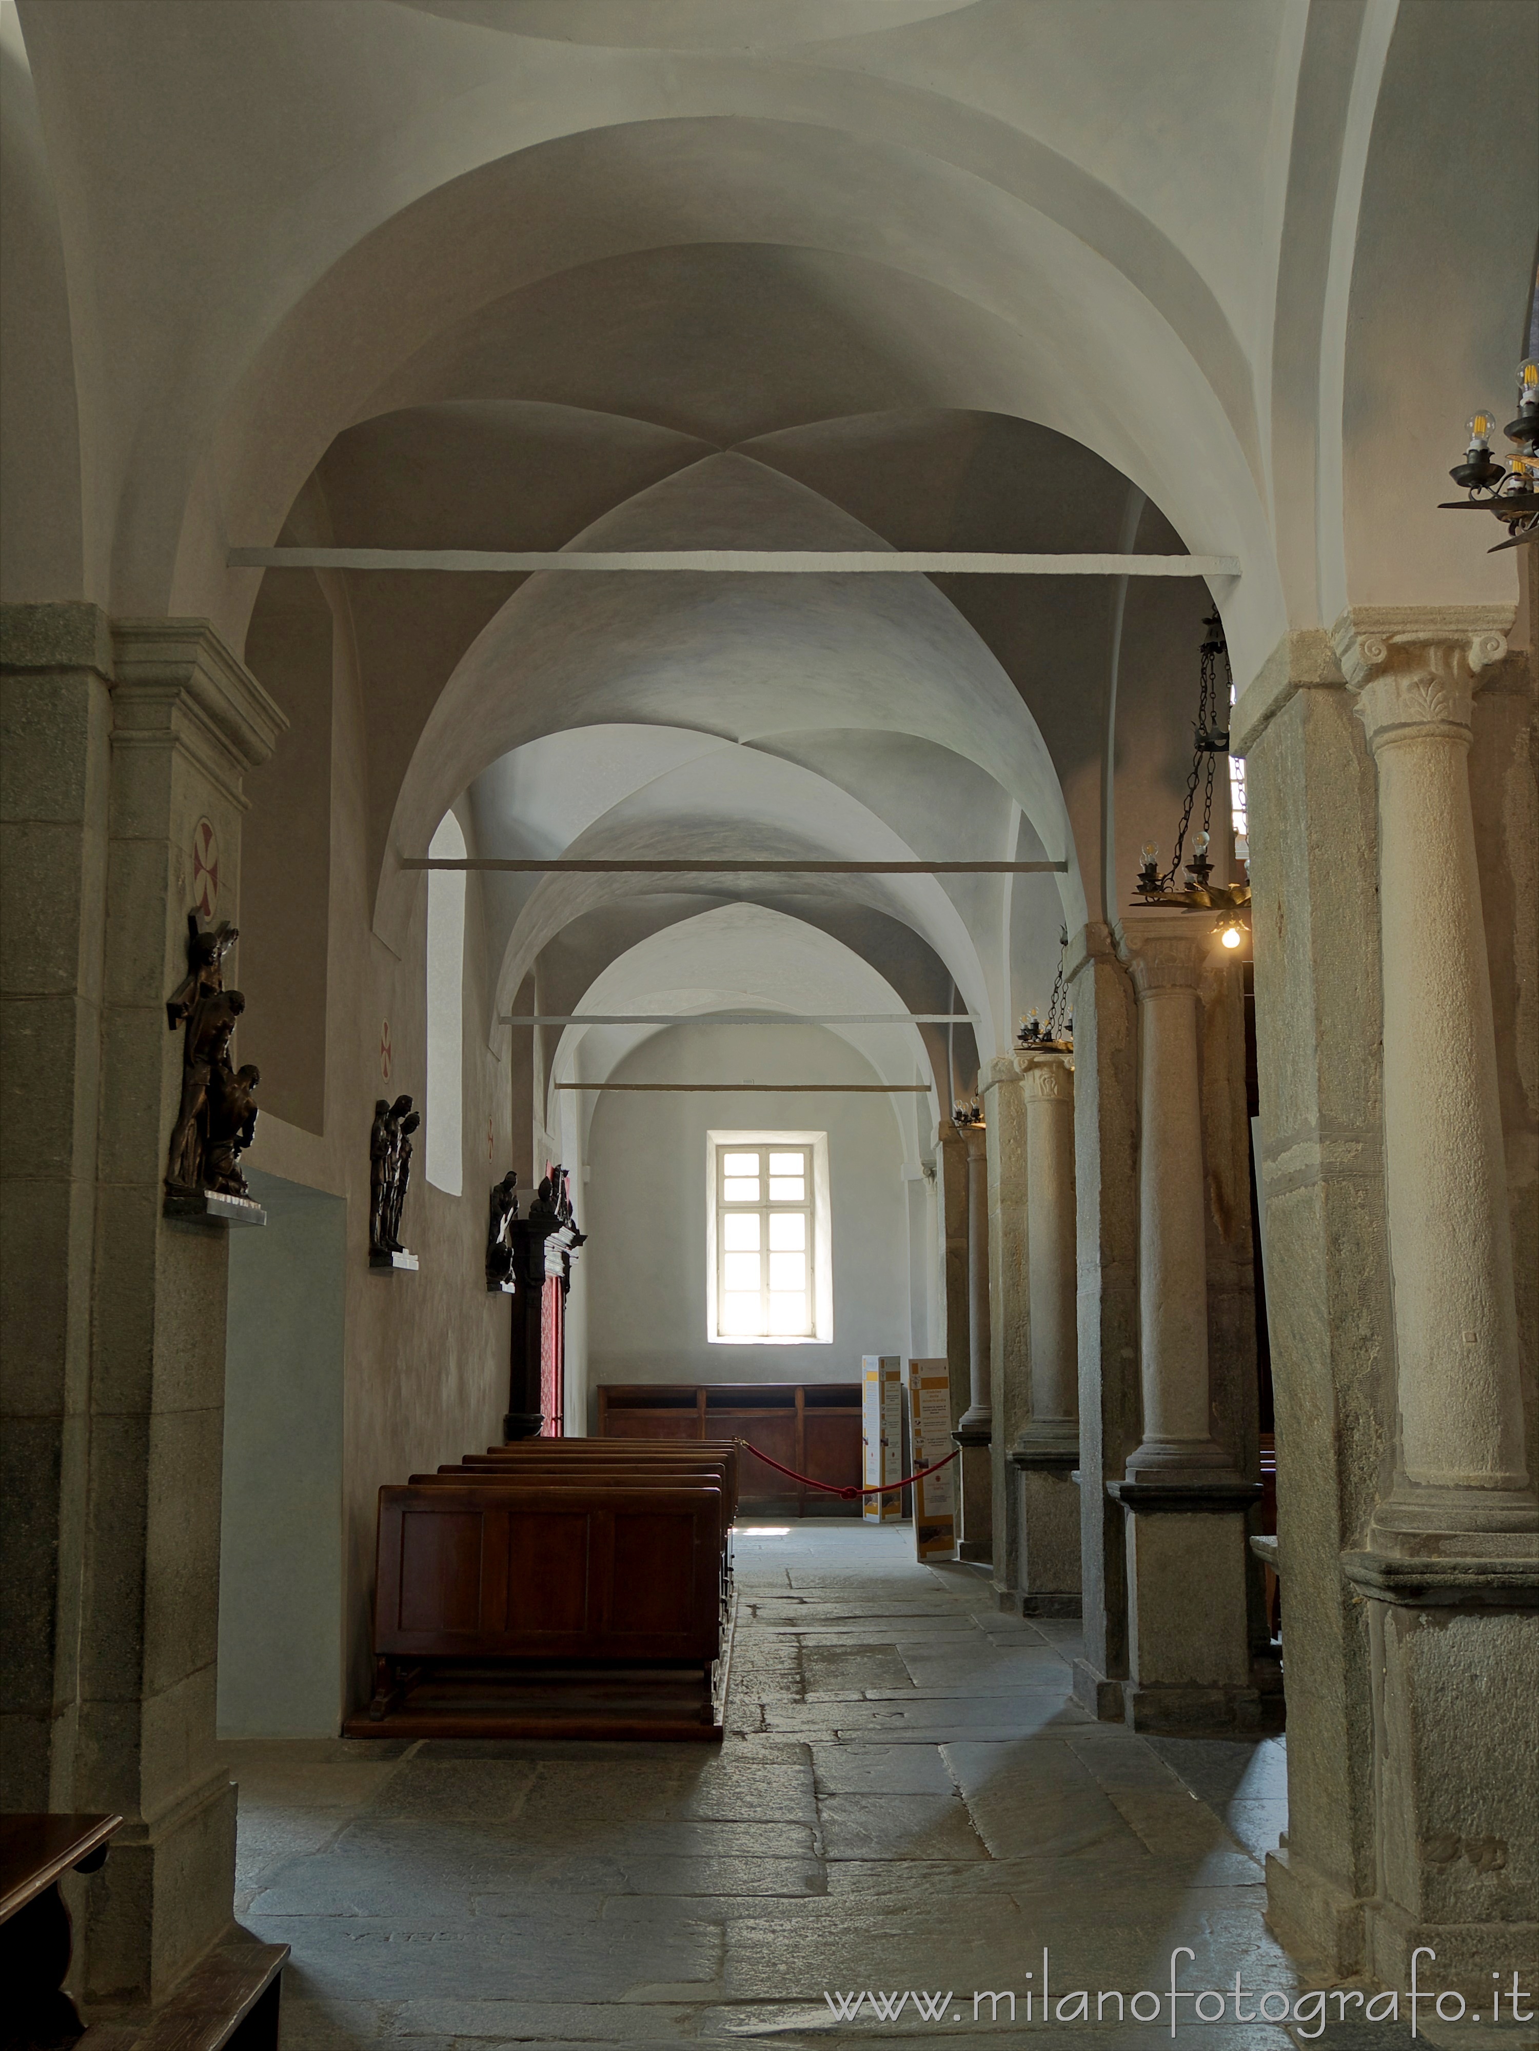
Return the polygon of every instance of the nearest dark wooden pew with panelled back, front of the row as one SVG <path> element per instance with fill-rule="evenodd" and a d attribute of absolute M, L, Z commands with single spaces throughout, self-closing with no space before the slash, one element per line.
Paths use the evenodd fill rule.
<path fill-rule="evenodd" d="M 382 1489 L 378 1686 L 347 1735 L 720 1739 L 724 1507 L 692 1477 Z"/>

